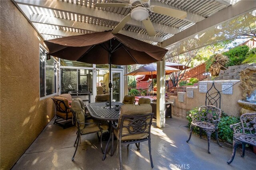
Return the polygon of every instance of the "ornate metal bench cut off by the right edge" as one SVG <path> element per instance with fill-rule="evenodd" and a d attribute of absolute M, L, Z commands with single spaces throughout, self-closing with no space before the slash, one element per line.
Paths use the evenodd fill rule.
<path fill-rule="evenodd" d="M 238 145 L 242 144 L 242 157 L 244 157 L 246 144 L 256 147 L 256 113 L 242 114 L 240 122 L 230 125 L 230 128 L 234 131 L 234 135 L 233 152 L 230 160 L 227 161 L 228 164 L 234 160 Z"/>

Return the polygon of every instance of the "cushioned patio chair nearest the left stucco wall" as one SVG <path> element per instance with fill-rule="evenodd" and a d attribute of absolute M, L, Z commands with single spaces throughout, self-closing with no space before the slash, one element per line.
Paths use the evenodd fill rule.
<path fill-rule="evenodd" d="M 56 107 L 56 119 L 53 124 L 58 124 L 65 129 L 68 123 L 72 121 L 72 111 L 70 110 L 68 99 L 61 96 L 55 96 L 52 100 Z"/>

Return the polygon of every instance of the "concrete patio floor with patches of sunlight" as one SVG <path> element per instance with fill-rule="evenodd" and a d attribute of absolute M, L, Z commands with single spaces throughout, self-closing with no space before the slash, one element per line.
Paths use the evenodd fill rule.
<path fill-rule="evenodd" d="M 74 141 L 76 140 L 76 127 L 62 129 L 53 125 L 54 119 L 47 125 L 38 138 L 21 156 L 13 166 L 13 170 L 116 170 L 119 167 L 119 156 L 110 153 L 102 161 L 100 143 L 96 134 L 82 136 L 81 145 L 78 147 L 74 162 L 71 158 L 74 154 Z M 226 161 L 232 154 L 232 146 L 222 143 L 219 147 L 216 141 L 211 141 L 211 153 L 207 152 L 207 139 L 200 139 L 192 134 L 189 143 L 186 140 L 189 130 L 185 127 L 187 121 L 178 117 L 172 119 L 166 117 L 166 127 L 156 128 L 156 122 L 152 127 L 152 158 L 153 169 L 160 170 L 252 170 L 256 168 L 256 154 L 246 150 L 245 157 L 240 156 L 238 148 L 232 164 Z M 106 142 L 103 142 L 105 146 Z M 116 149 L 116 141 L 114 149 Z M 110 148 L 110 147 L 109 147 Z M 149 170 L 150 159 L 147 142 L 141 143 L 140 151 L 136 146 L 122 146 L 123 169 Z"/>

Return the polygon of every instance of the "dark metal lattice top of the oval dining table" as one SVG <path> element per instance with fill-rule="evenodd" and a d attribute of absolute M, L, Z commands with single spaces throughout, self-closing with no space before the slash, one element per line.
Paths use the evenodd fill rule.
<path fill-rule="evenodd" d="M 86 107 L 92 117 L 99 120 L 108 120 L 108 121 L 118 121 L 120 116 L 119 112 L 116 111 L 115 105 L 119 105 L 120 107 L 124 104 L 120 102 L 111 102 L 113 106 L 111 109 L 106 108 L 106 102 L 95 102 L 91 104 L 87 104 Z"/>

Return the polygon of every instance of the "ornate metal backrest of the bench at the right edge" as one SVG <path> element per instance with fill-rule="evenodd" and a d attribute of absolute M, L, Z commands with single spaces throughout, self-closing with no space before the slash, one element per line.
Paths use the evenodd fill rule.
<path fill-rule="evenodd" d="M 243 134 L 256 136 L 256 113 L 244 113 L 240 117 Z"/>

